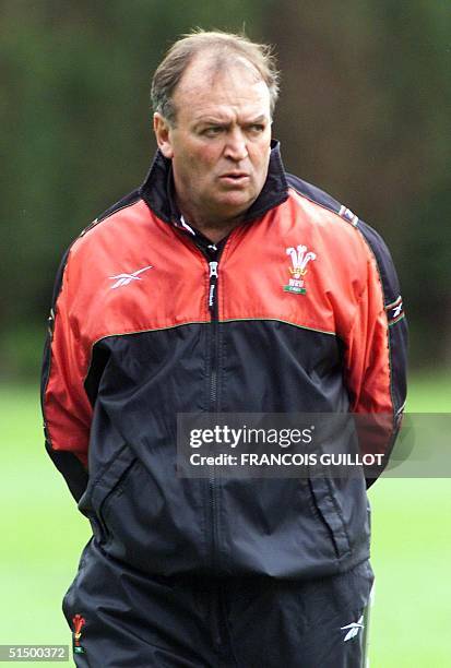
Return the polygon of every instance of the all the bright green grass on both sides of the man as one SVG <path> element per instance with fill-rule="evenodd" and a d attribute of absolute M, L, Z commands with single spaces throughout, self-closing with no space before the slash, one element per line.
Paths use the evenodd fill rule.
<path fill-rule="evenodd" d="M 446 374 L 423 374 L 411 387 L 411 411 L 451 413 Z M 61 598 L 90 526 L 44 452 L 37 390 L 0 386 L 0 644 L 69 645 Z M 370 500 L 377 575 L 371 668 L 446 668 L 450 480 L 383 479 L 371 488 Z"/>

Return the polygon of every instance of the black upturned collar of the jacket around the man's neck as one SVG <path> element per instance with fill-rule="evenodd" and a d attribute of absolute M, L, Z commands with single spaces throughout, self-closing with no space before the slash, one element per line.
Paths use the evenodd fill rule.
<path fill-rule="evenodd" d="M 140 195 L 158 218 L 171 223 L 176 227 L 186 228 L 174 196 L 174 181 L 171 162 L 158 150 L 155 154 L 151 169 L 144 183 L 140 188 Z M 288 184 L 282 164 L 280 143 L 272 141 L 270 165 L 264 186 L 245 215 L 245 223 L 254 220 L 271 208 L 278 206 L 288 196 Z"/>

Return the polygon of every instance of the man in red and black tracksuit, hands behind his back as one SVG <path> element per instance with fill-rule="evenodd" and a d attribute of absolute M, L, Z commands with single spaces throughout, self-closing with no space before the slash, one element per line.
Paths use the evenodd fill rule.
<path fill-rule="evenodd" d="M 47 449 L 93 526 L 63 604 L 76 665 L 360 666 L 363 474 L 178 477 L 177 415 L 389 414 L 387 460 L 405 395 L 390 255 L 285 174 L 265 47 L 187 36 L 152 95 L 157 155 L 66 254 L 44 363 Z"/>

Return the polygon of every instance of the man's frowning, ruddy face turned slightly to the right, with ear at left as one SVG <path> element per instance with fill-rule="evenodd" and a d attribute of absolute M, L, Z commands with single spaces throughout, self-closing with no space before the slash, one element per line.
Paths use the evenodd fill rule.
<path fill-rule="evenodd" d="M 221 227 L 249 208 L 266 179 L 269 88 L 246 61 L 217 70 L 200 55 L 183 73 L 174 104 L 175 127 L 156 114 L 155 131 L 173 159 L 180 210 L 194 225 Z"/>

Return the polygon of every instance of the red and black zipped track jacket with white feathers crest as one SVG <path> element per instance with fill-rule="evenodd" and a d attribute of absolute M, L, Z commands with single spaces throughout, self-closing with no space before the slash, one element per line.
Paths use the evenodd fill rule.
<path fill-rule="evenodd" d="M 71 246 L 43 372 L 47 450 L 105 553 L 149 574 L 345 572 L 369 554 L 364 476 L 187 479 L 176 416 L 389 414 L 406 324 L 381 238 L 287 175 L 221 244 L 180 218 L 170 162 Z M 380 448 L 379 448 L 380 450 Z"/>

